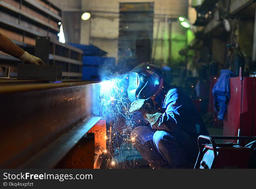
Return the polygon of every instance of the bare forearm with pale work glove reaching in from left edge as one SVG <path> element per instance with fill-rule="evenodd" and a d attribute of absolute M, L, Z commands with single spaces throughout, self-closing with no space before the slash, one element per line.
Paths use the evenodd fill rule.
<path fill-rule="evenodd" d="M 40 64 L 44 65 L 43 61 L 24 51 L 22 48 L 13 43 L 8 37 L 0 33 L 0 51 L 5 52 L 15 58 L 19 58 L 24 64 Z"/>

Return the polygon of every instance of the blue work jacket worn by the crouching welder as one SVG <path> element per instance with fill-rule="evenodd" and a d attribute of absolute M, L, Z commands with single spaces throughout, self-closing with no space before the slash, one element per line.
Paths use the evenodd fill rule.
<path fill-rule="evenodd" d="M 209 135 L 200 113 L 189 95 L 181 88 L 172 85 L 154 98 L 157 102 L 155 123 L 150 122 L 152 129 L 167 132 L 184 131 L 189 135 Z"/>

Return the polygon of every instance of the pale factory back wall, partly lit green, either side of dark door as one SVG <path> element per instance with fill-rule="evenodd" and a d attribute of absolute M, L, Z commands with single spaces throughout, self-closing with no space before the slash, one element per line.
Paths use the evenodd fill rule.
<path fill-rule="evenodd" d="M 120 0 L 51 1 L 63 10 L 63 16 L 67 15 L 63 20 L 72 24 L 72 27 L 63 26 L 66 41 L 71 43 L 79 41 L 85 45 L 92 43 L 107 51 L 109 57 L 115 57 L 116 61 L 118 60 Z M 180 15 L 187 16 L 187 0 L 124 0 L 121 2 L 154 2 L 154 39 L 152 44 L 154 62 L 159 64 L 166 62 L 172 65 L 184 61 L 184 57 L 180 56 L 178 52 L 186 45 L 186 30 L 179 25 L 177 18 Z M 76 15 L 84 11 L 91 13 L 91 18 L 87 21 L 76 20 L 75 16 L 71 16 L 71 13 Z M 171 24 L 168 23 L 169 20 L 172 20 Z M 63 24 L 65 23 L 63 22 Z M 78 25 L 80 25 L 80 30 L 78 30 Z M 80 36 L 80 39 L 77 36 Z"/>

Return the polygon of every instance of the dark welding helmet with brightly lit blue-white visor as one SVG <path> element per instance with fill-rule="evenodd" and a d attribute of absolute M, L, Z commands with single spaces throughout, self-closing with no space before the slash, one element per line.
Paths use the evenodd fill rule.
<path fill-rule="evenodd" d="M 127 93 L 130 102 L 152 97 L 159 90 L 161 78 L 163 78 L 161 69 L 147 63 L 141 63 L 129 71 Z"/>

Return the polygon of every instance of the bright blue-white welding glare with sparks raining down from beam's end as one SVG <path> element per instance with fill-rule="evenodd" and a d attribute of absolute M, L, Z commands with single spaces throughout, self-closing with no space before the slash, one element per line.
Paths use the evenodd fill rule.
<path fill-rule="evenodd" d="M 125 84 L 126 83 L 126 84 Z M 101 82 L 100 88 L 100 106 L 102 106 L 102 114 L 106 116 L 106 120 L 112 120 L 112 142 L 115 153 L 119 153 L 119 150 L 125 147 L 124 144 L 130 143 L 131 130 L 135 127 L 135 122 L 133 121 L 133 115 L 129 113 L 129 98 L 127 96 L 127 80 L 126 77 L 112 77 L 109 80 Z M 110 134 L 110 133 L 108 133 Z M 108 136 L 110 137 L 110 135 Z M 119 137 L 119 138 L 118 138 Z M 117 141 L 123 140 L 123 144 L 120 143 L 116 149 Z M 132 149 L 135 149 L 132 147 Z M 133 152 L 136 154 L 136 151 Z M 112 159 L 113 157 L 111 157 Z M 112 160 L 109 160 L 109 163 Z M 130 161 L 131 165 L 134 165 L 134 160 Z M 122 166 L 127 167 L 126 162 L 121 161 L 119 164 L 116 164 L 115 167 Z"/>

